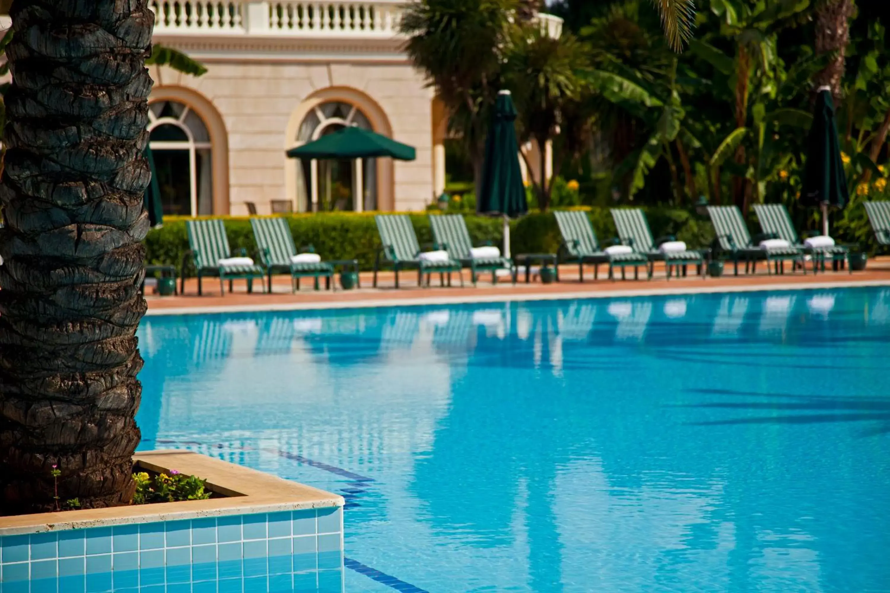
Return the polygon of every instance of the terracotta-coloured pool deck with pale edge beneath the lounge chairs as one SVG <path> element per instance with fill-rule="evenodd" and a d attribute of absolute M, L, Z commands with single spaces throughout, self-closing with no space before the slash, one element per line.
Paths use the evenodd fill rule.
<path fill-rule="evenodd" d="M 601 268 L 601 272 L 603 268 Z M 690 270 L 694 271 L 694 270 Z M 417 287 L 417 274 L 408 272 L 400 279 L 402 287 L 396 289 L 392 273 L 381 274 L 379 288 L 370 288 L 371 274 L 362 272 L 362 288 L 352 291 L 336 290 L 335 292 L 312 290 L 312 281 L 303 281 L 299 292 L 290 292 L 290 279 L 287 276 L 276 276 L 272 283 L 271 294 L 263 292 L 247 293 L 245 281 L 235 281 L 235 292 L 220 295 L 219 281 L 206 278 L 204 295 L 198 296 L 198 282 L 189 278 L 185 283 L 185 294 L 179 296 L 160 297 L 146 292 L 149 303 L 148 315 L 182 315 L 198 313 L 224 313 L 240 311 L 275 311 L 298 309 L 352 309 L 364 307 L 385 307 L 392 305 L 440 305 L 470 302 L 503 302 L 503 301 L 545 301 L 577 298 L 610 298 L 628 296 L 651 296 L 659 294 L 692 294 L 700 292 L 748 292 L 763 290 L 798 290 L 798 289 L 829 289 L 844 286 L 890 286 L 890 257 L 870 260 L 869 266 L 862 272 L 850 274 L 846 270 L 840 272 L 820 272 L 813 275 L 808 271 L 804 276 L 799 271 L 794 274 L 769 276 L 764 271 L 756 275 L 732 276 L 732 268 L 727 266 L 730 276 L 719 278 L 700 276 L 685 278 L 673 277 L 667 280 L 664 268 L 655 268 L 651 280 L 617 280 L 610 281 L 600 276 L 593 280 L 593 268 L 585 272 L 585 282 L 578 282 L 578 266 L 560 267 L 561 282 L 541 284 L 532 281 L 525 284 L 524 277 L 512 285 L 508 278 L 502 279 L 497 285 L 490 283 L 490 276 L 485 277 L 477 287 L 469 282 L 469 273 L 465 272 L 465 286 L 460 286 L 457 276 L 454 286 L 440 287 L 438 277 L 433 278 L 431 288 Z M 632 276 L 631 276 L 632 277 Z M 323 286 L 323 284 L 322 284 Z M 259 286 L 255 284 L 255 289 Z"/>

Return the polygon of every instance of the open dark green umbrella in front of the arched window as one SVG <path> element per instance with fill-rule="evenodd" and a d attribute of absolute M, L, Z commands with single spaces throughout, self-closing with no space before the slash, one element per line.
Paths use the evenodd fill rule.
<path fill-rule="evenodd" d="M 287 156 L 316 159 L 390 156 L 401 161 L 413 161 L 416 153 L 414 148 L 407 144 L 353 125 L 303 146 L 291 148 L 287 151 Z"/>

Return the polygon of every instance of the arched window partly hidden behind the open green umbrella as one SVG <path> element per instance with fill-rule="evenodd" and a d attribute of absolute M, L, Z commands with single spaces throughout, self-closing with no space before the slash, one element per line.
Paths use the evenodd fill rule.
<path fill-rule="evenodd" d="M 343 101 L 328 101 L 317 105 L 303 118 L 296 134 L 296 146 L 356 125 L 365 130 L 373 130 L 368 117 L 359 108 Z M 377 209 L 377 167 L 375 158 L 360 159 L 360 164 L 349 160 L 303 161 L 297 167 L 297 210 L 300 212 L 321 212 L 331 210 L 376 210 Z M 360 183 L 356 167 L 361 167 Z M 361 187 L 360 204 L 356 204 L 355 193 Z M 316 188 L 316 192 L 312 191 Z M 315 208 L 313 199 L 317 200 Z"/>

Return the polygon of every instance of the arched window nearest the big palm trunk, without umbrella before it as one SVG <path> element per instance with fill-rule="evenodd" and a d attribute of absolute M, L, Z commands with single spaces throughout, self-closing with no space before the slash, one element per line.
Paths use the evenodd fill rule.
<path fill-rule="evenodd" d="M 149 147 L 165 214 L 213 214 L 210 134 L 188 105 L 161 100 L 149 106 Z"/>

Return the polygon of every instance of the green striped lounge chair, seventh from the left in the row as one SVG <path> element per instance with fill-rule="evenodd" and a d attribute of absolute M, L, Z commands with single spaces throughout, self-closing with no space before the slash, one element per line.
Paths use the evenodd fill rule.
<path fill-rule="evenodd" d="M 795 247 L 781 247 L 778 249 L 762 249 L 760 239 L 769 236 L 757 236 L 756 241 L 751 239 L 745 219 L 741 217 L 738 206 L 708 206 L 708 216 L 714 225 L 716 233 L 716 245 L 724 254 L 724 259 L 732 260 L 735 275 L 739 276 L 739 260 L 745 261 L 745 273 L 755 272 L 757 261 L 766 261 L 766 272 L 772 274 L 770 264 L 775 262 L 776 268 L 780 262 L 793 261 L 795 265 L 804 268 L 804 250 Z"/>

